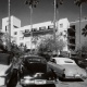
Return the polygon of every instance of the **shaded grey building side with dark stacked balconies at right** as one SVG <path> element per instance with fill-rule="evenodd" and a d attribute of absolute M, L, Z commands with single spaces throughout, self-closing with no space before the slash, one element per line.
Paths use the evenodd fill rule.
<path fill-rule="evenodd" d="M 82 20 L 75 22 L 70 22 L 70 28 L 67 29 L 67 46 L 72 54 L 76 50 L 80 49 L 83 46 L 86 46 L 87 37 L 83 35 L 83 28 L 87 25 L 87 20 Z"/>

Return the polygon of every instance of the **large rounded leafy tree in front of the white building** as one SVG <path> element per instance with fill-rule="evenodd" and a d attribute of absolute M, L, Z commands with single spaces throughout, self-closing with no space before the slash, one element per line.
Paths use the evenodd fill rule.
<path fill-rule="evenodd" d="M 54 39 L 52 35 L 45 36 L 40 42 L 37 46 L 37 53 L 39 54 L 50 54 L 53 51 L 63 50 L 63 47 L 65 46 L 65 42 L 60 39 L 60 36 L 58 35 L 55 37 L 55 45 Z"/>

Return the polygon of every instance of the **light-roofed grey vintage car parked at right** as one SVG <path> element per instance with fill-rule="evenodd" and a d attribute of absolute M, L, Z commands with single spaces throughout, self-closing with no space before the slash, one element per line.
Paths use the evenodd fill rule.
<path fill-rule="evenodd" d="M 86 78 L 87 72 L 79 67 L 74 60 L 70 58 L 52 58 L 48 62 L 50 67 L 58 74 L 59 77 L 65 78 Z"/>

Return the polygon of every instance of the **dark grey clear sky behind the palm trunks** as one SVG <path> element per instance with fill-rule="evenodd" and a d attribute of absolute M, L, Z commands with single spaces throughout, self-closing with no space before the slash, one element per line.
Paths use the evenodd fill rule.
<path fill-rule="evenodd" d="M 21 20 L 22 26 L 30 24 L 30 11 L 25 4 L 26 0 L 11 0 L 11 15 Z M 33 9 L 33 24 L 53 21 L 53 1 L 39 0 L 36 8 Z M 87 17 L 87 3 L 83 3 L 82 17 Z M 67 17 L 70 22 L 76 21 L 79 17 L 79 7 L 74 4 L 74 0 L 64 0 L 62 5 L 59 5 L 59 15 L 57 18 Z M 8 16 L 8 0 L 0 0 L 0 28 L 2 27 L 2 18 Z"/>

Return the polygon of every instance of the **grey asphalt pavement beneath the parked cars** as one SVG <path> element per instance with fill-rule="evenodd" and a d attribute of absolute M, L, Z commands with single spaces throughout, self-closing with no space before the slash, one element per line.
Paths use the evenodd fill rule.
<path fill-rule="evenodd" d="M 1 86 L 7 87 L 7 86 Z M 16 87 L 22 87 L 21 85 L 17 85 Z M 72 80 L 72 82 L 60 82 L 59 84 L 55 84 L 55 87 L 87 87 L 87 79 L 84 82 L 79 80 Z"/>

